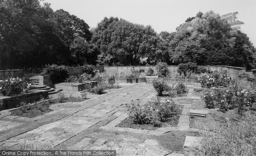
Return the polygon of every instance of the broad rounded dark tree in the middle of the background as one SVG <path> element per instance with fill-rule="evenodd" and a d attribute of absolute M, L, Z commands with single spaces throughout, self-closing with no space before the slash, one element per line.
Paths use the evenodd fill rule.
<path fill-rule="evenodd" d="M 100 65 L 138 65 L 157 51 L 160 38 L 151 26 L 105 17 L 93 32 L 92 44 Z"/>

